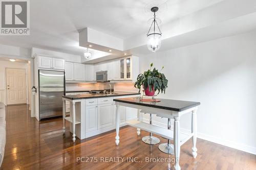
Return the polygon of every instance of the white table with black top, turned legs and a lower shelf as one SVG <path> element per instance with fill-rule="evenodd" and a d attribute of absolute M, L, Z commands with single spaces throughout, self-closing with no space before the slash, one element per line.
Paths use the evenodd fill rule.
<path fill-rule="evenodd" d="M 197 108 L 200 105 L 199 102 L 188 102 L 168 99 L 158 99 L 160 102 L 141 102 L 140 97 L 134 98 L 122 98 L 114 99 L 116 102 L 116 145 L 119 144 L 119 123 L 120 123 L 120 107 L 131 107 L 140 109 L 141 112 L 156 114 L 160 117 L 168 118 L 168 129 L 162 128 L 156 125 L 147 124 L 141 122 L 140 114 L 138 119 L 128 120 L 127 125 L 137 128 L 137 134 L 140 135 L 140 129 L 151 132 L 162 136 L 163 138 L 174 140 L 172 147 L 168 150 L 174 150 L 168 154 L 175 154 L 175 169 L 179 170 L 179 159 L 180 159 L 180 146 L 185 143 L 188 139 L 193 137 L 192 155 L 194 158 L 197 157 Z M 180 132 L 180 117 L 183 114 L 191 114 L 191 133 L 185 134 Z M 170 119 L 174 119 L 174 130 L 169 128 Z"/>

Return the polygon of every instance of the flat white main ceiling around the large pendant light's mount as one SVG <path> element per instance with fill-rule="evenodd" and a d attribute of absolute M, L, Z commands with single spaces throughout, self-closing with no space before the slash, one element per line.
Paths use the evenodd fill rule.
<path fill-rule="evenodd" d="M 168 29 L 172 31 L 181 18 L 193 17 L 194 13 L 200 13 L 206 9 L 210 11 L 211 7 L 214 9 L 222 4 L 228 7 L 228 3 L 224 2 L 228 2 L 232 7 L 233 2 L 239 2 L 239 0 L 33 0 L 30 1 L 30 36 L 1 36 L 0 44 L 45 48 L 82 55 L 86 48 L 78 45 L 80 29 L 89 27 L 128 42 L 133 37 L 145 36 L 149 28 L 147 20 L 152 17 L 150 9 L 153 6 L 158 6 L 157 17 L 162 21 L 160 28 L 164 28 L 166 35 L 169 34 Z M 240 2 L 244 1 L 240 0 Z M 253 1 L 248 0 L 248 6 L 250 2 Z M 239 10 L 246 11 L 246 9 Z M 216 15 L 220 14 L 216 13 Z M 197 19 L 201 18 L 197 17 Z M 209 16 L 209 20 L 211 19 L 212 16 Z M 169 37 L 171 36 L 165 38 Z M 138 50 L 139 46 L 143 46 L 144 49 L 146 42 L 144 38 L 140 38 L 140 40 L 138 45 L 127 47 L 127 51 Z"/>

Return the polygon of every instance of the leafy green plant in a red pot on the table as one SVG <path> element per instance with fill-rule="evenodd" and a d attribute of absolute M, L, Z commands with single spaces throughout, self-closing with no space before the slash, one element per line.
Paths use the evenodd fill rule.
<path fill-rule="evenodd" d="M 155 95 L 156 90 L 158 90 L 157 94 L 159 94 L 160 91 L 161 93 L 165 93 L 168 83 L 168 80 L 165 78 L 164 74 L 160 73 L 156 68 L 152 70 L 152 67 L 153 63 L 150 64 L 150 69 L 144 71 L 143 74 L 138 75 L 137 81 L 134 84 L 134 87 L 138 88 L 139 92 L 142 86 L 144 88 L 145 95 L 147 96 Z"/>

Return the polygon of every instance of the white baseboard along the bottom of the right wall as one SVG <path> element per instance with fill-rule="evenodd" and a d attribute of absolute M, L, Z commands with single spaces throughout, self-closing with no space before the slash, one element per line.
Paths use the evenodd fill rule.
<path fill-rule="evenodd" d="M 148 123 L 149 119 L 142 118 L 142 121 Z M 167 123 L 163 124 L 161 122 L 157 122 L 157 121 L 153 120 L 153 124 L 156 125 L 156 126 L 167 128 Z M 171 126 L 172 130 L 173 130 L 173 128 L 174 127 Z M 183 133 L 190 133 L 191 132 L 190 129 L 184 129 L 184 128 L 180 128 L 180 131 L 183 132 Z M 242 144 L 242 143 L 237 143 L 237 142 L 234 142 L 234 141 L 225 140 L 225 139 L 222 139 L 222 138 L 206 135 L 206 134 L 199 133 L 199 132 L 197 133 L 197 137 L 200 138 L 200 139 L 203 139 L 203 140 L 208 140 L 210 142 L 214 142 L 214 143 L 224 145 L 224 146 L 229 147 L 229 148 L 237 149 L 237 150 L 240 150 L 240 151 L 244 151 L 244 152 L 248 152 L 250 154 L 256 155 L 256 148 L 255 147 L 251 147 L 251 146 L 248 146 L 248 145 L 245 145 L 245 144 Z"/>

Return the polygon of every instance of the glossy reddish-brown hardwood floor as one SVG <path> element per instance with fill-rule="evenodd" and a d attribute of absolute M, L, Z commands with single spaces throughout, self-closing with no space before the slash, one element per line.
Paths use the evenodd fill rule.
<path fill-rule="evenodd" d="M 39 123 L 30 117 L 26 105 L 8 106 L 6 119 L 7 141 L 0 169 L 173 169 L 174 166 L 174 155 L 162 153 L 158 145 L 143 143 L 141 136 L 148 133 L 141 131 L 141 135 L 137 136 L 136 129 L 132 127 L 121 128 L 117 147 L 115 131 L 84 140 L 77 139 L 73 143 L 69 128 L 65 135 L 62 134 L 62 118 Z M 166 139 L 159 138 L 161 143 L 166 142 Z M 181 147 L 181 169 L 256 169 L 256 155 L 198 139 L 198 156 L 194 159 L 191 146 L 189 140 Z M 79 157 L 84 157 L 82 161 L 86 161 L 86 157 L 93 157 L 93 160 L 77 161 Z M 104 161 L 111 158 L 117 161 L 117 157 L 124 159 L 103 162 L 103 158 Z M 127 157 L 139 162 L 128 162 Z M 169 159 L 165 162 L 155 162 L 155 159 L 146 162 L 148 158 Z"/>

